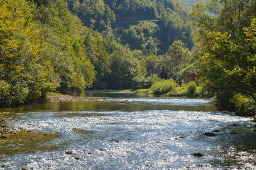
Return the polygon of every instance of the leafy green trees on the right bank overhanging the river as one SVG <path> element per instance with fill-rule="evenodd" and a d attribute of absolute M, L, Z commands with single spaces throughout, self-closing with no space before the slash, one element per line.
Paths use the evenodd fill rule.
<path fill-rule="evenodd" d="M 255 0 L 211 0 L 191 11 L 197 21 L 200 82 L 220 105 L 256 113 Z"/>

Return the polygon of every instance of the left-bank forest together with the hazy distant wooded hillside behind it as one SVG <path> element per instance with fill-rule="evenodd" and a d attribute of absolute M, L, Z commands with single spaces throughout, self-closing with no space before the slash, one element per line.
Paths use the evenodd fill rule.
<path fill-rule="evenodd" d="M 172 0 L 0 0 L 0 104 L 131 88 L 173 41 L 192 48 L 192 29 Z"/>

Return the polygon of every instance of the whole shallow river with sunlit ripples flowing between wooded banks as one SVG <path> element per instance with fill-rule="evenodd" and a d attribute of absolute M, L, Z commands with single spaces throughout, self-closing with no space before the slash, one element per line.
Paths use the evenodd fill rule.
<path fill-rule="evenodd" d="M 0 142 L 0 169 L 256 170 L 255 123 L 221 111 L 211 99 L 125 92 L 80 97 L 99 101 L 0 109 L 15 117 L 15 128 L 32 130 Z M 217 129 L 217 136 L 203 135 Z"/>

